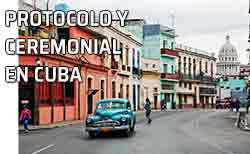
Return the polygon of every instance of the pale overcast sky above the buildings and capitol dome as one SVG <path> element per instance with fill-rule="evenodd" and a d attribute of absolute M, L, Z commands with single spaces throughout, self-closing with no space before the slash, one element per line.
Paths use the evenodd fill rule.
<path fill-rule="evenodd" d="M 76 9 L 129 9 L 130 17 L 154 19 L 171 25 L 175 14 L 177 43 L 218 53 L 227 34 L 247 63 L 248 0 L 65 0 Z"/>

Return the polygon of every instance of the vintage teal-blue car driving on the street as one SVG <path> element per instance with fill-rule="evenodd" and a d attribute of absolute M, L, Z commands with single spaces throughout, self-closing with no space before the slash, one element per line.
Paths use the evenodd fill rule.
<path fill-rule="evenodd" d="M 95 114 L 86 119 L 86 131 L 91 138 L 107 131 L 130 136 L 135 131 L 135 123 L 136 116 L 127 99 L 103 99 L 97 102 Z"/>

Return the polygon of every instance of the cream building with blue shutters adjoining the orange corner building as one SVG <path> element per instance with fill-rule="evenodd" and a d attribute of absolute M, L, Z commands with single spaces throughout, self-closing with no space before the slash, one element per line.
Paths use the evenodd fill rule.
<path fill-rule="evenodd" d="M 128 98 L 133 110 L 140 109 L 140 65 L 142 44 L 131 34 L 116 27 L 89 27 L 91 30 L 103 34 L 110 42 L 115 39 L 121 55 L 111 55 L 108 63 L 111 65 L 113 77 L 110 80 L 112 98 Z"/>

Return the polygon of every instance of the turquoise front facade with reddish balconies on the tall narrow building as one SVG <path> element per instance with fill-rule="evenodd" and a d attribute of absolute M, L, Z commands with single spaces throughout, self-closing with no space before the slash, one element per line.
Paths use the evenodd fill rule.
<path fill-rule="evenodd" d="M 176 108 L 176 83 L 177 58 L 178 53 L 175 51 L 175 30 L 166 26 L 161 26 L 160 31 L 161 47 L 161 95 L 160 99 L 166 103 L 168 109 Z"/>

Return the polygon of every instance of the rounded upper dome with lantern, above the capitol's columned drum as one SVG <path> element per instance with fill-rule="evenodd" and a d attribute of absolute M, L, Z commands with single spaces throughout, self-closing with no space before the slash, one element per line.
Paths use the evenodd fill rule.
<path fill-rule="evenodd" d="M 237 61 L 238 54 L 234 45 L 230 42 L 230 36 L 226 36 L 226 43 L 219 50 L 219 61 Z"/>

